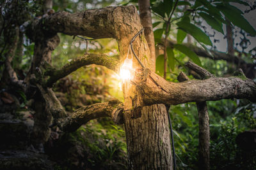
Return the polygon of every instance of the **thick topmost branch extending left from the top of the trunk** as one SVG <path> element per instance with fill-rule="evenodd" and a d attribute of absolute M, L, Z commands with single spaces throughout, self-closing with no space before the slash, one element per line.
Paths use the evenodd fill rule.
<path fill-rule="evenodd" d="M 118 21 L 118 19 L 120 19 L 122 15 L 134 17 L 134 13 L 136 13 L 136 7 L 133 5 L 111 6 L 77 13 L 59 11 L 52 13 L 52 15 L 45 15 L 39 20 L 34 20 L 29 25 L 26 33 L 31 39 L 38 37 L 42 29 L 46 32 L 62 32 L 71 36 L 81 35 L 91 38 L 120 39 L 123 33 L 117 30 L 118 27 L 116 27 L 116 25 L 121 22 L 121 20 Z M 120 17 L 115 18 L 113 15 Z M 122 22 L 124 21 L 122 20 Z"/>

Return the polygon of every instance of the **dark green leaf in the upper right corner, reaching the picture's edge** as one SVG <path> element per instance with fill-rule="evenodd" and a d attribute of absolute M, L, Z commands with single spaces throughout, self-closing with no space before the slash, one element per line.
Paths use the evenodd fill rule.
<path fill-rule="evenodd" d="M 225 15 L 225 17 L 228 18 L 232 24 L 236 25 L 237 27 L 240 27 L 244 31 L 250 33 L 252 36 L 256 36 L 256 31 L 250 25 L 250 23 L 241 15 L 241 11 L 238 10 L 236 7 L 231 5 L 225 5 L 218 4 L 218 8 L 220 11 Z"/>

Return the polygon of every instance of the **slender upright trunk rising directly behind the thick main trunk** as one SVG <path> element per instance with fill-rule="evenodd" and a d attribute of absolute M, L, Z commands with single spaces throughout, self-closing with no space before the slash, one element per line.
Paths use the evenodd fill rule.
<path fill-rule="evenodd" d="M 140 22 L 144 28 L 144 34 L 147 39 L 148 48 L 150 50 L 150 59 L 152 63 L 156 63 L 156 48 L 152 27 L 150 0 L 139 0 L 138 6 L 140 11 Z M 155 64 L 152 65 L 152 71 L 156 71 Z"/>

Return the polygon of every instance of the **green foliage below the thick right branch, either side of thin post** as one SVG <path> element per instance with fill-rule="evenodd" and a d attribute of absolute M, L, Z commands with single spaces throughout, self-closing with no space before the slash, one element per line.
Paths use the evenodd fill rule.
<path fill-rule="evenodd" d="M 244 152 L 236 145 L 240 132 L 255 129 L 255 104 L 230 100 L 207 102 L 210 118 L 211 169 L 255 169 L 256 150 Z M 178 169 L 198 169 L 198 115 L 194 103 L 170 108 Z M 247 155 L 245 157 L 245 155 Z M 246 159 L 245 159 L 246 158 Z"/>

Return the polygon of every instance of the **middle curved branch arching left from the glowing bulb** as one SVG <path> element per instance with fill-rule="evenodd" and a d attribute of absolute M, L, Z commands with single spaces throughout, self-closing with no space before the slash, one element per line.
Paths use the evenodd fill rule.
<path fill-rule="evenodd" d="M 79 69 L 79 67 L 88 66 L 90 64 L 97 64 L 100 66 L 105 66 L 113 71 L 118 71 L 119 69 L 119 60 L 114 57 L 108 57 L 104 54 L 96 54 L 89 53 L 84 55 L 83 57 L 78 57 L 70 61 L 68 64 L 63 66 L 61 69 L 49 69 L 45 72 L 45 76 L 50 76 L 47 80 L 47 87 L 52 87 L 53 83 L 55 83 L 60 78 L 67 76 Z"/>

